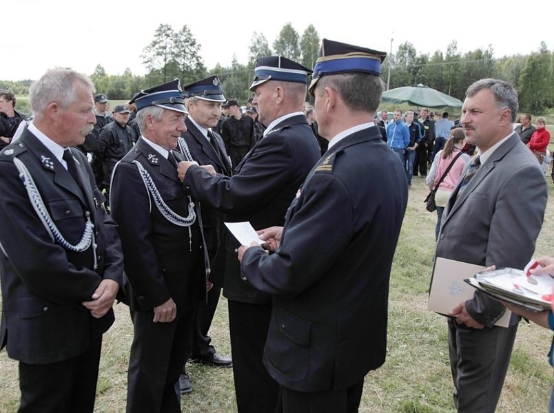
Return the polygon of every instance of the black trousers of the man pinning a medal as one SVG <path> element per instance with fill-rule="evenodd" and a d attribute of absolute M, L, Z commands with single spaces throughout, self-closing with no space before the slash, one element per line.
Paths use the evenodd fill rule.
<path fill-rule="evenodd" d="M 279 385 L 262 361 L 271 304 L 227 302 L 238 413 L 274 413 Z"/>

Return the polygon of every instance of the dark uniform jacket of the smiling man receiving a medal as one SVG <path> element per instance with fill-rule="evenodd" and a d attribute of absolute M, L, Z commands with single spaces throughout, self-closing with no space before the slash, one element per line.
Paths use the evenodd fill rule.
<path fill-rule="evenodd" d="M 116 165 L 110 189 L 112 217 L 118 224 L 125 257 L 125 290 L 132 310 L 148 311 L 170 297 L 177 310 L 192 308 L 205 299 L 205 262 L 198 218 L 189 229 L 169 222 L 147 191 L 140 162 L 150 173 L 161 198 L 172 211 L 188 215 L 187 191 L 176 169 L 139 138 L 132 151 Z M 174 152 L 177 161 L 183 160 Z M 192 250 L 192 251 L 191 251 Z"/>

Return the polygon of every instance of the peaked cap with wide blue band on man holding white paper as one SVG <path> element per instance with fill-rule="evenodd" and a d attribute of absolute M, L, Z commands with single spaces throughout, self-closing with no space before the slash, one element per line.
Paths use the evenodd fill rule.
<path fill-rule="evenodd" d="M 308 91 L 311 93 L 318 80 L 329 74 L 368 73 L 380 76 L 381 63 L 386 56 L 387 53 L 378 50 L 323 39 Z"/>

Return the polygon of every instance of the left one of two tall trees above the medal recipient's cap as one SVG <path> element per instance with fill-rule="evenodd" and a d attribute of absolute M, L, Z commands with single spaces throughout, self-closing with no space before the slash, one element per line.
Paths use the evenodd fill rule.
<path fill-rule="evenodd" d="M 175 32 L 168 24 L 161 24 L 154 33 L 154 39 L 147 45 L 141 58 L 146 68 L 150 72 L 156 72 L 158 76 L 161 74 L 162 81 L 165 83 L 168 80 L 168 66 L 174 58 L 173 47 Z"/>

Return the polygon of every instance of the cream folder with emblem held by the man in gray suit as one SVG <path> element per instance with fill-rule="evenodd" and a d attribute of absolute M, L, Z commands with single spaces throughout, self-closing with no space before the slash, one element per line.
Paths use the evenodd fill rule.
<path fill-rule="evenodd" d="M 473 277 L 484 268 L 480 265 L 436 257 L 427 308 L 435 313 L 448 315 L 450 310 L 462 301 L 471 299 L 475 288 L 464 282 L 464 279 Z M 506 310 L 495 326 L 508 327 L 511 314 L 511 311 Z"/>

